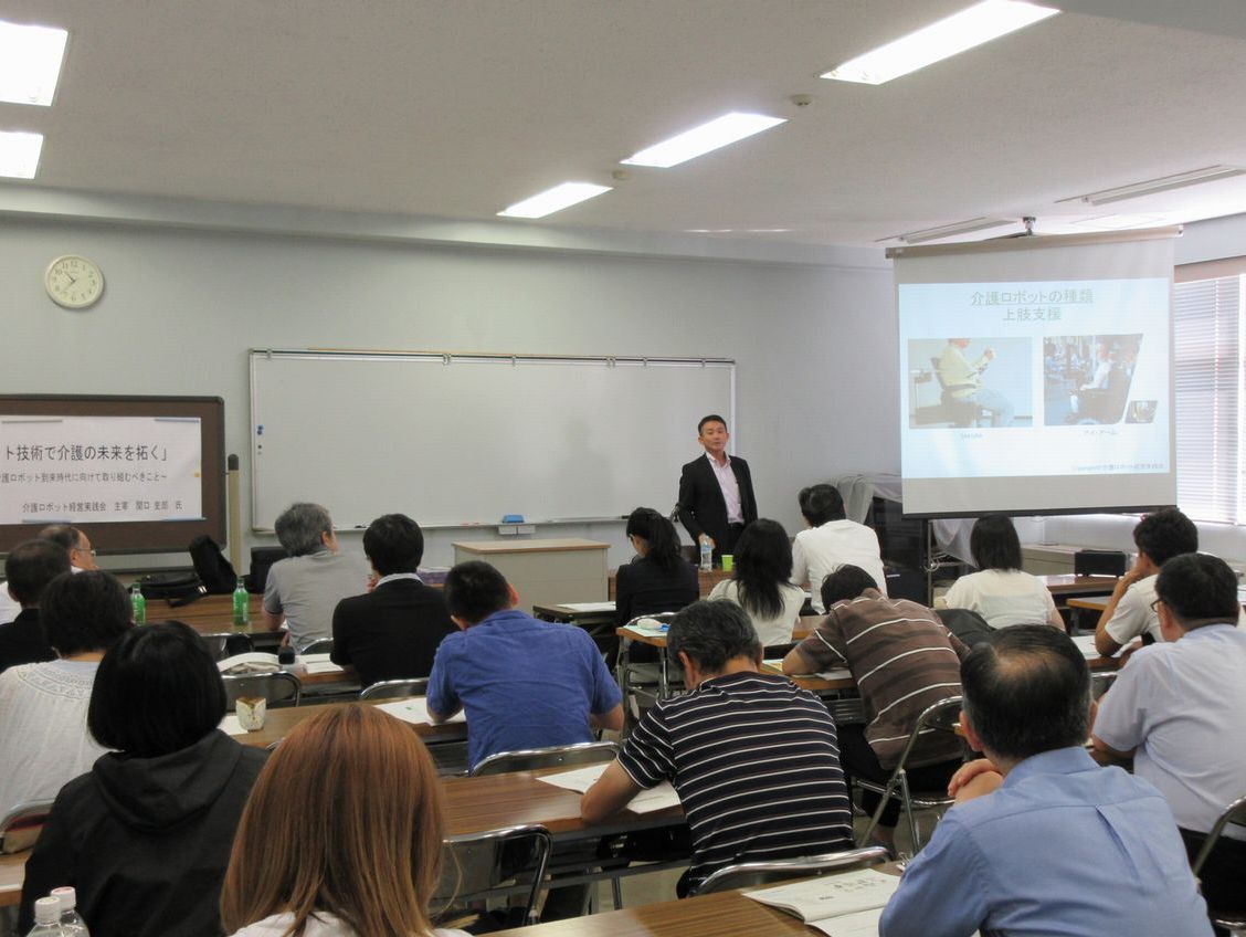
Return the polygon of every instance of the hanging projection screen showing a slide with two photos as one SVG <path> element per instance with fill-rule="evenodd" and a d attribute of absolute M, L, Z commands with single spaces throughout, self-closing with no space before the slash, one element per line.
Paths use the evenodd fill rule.
<path fill-rule="evenodd" d="M 906 515 L 1175 503 L 1177 233 L 891 252 Z"/>

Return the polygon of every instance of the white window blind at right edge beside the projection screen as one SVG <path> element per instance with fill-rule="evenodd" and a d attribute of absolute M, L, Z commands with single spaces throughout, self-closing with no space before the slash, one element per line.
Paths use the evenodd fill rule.
<path fill-rule="evenodd" d="M 1199 521 L 1246 523 L 1244 285 L 1242 275 L 1174 284 L 1177 498 Z"/>

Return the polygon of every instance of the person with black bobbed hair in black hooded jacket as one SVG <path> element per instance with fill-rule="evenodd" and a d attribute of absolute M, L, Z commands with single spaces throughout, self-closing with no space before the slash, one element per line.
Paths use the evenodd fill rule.
<path fill-rule="evenodd" d="M 21 930 L 60 885 L 100 937 L 216 937 L 234 829 L 267 753 L 217 729 L 221 673 L 181 622 L 132 628 L 100 662 L 87 726 L 116 749 L 66 784 L 26 862 Z"/>

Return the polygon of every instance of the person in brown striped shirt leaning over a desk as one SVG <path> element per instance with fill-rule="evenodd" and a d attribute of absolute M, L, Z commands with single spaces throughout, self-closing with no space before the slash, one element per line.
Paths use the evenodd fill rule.
<path fill-rule="evenodd" d="M 841 725 L 840 764 L 849 781 L 886 784 L 925 709 L 961 695 L 961 658 L 968 648 L 925 606 L 885 598 L 858 566 L 841 566 L 822 581 L 826 622 L 782 662 L 786 674 L 836 667 L 852 672 L 865 708 L 865 725 Z M 961 766 L 961 743 L 933 733 L 908 756 L 908 786 L 942 790 Z M 861 790 L 871 816 L 880 796 Z M 900 801 L 888 797 L 876 827 L 878 840 L 895 846 Z"/>

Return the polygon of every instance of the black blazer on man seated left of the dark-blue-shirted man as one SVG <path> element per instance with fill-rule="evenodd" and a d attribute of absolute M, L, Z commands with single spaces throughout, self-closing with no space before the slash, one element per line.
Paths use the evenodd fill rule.
<path fill-rule="evenodd" d="M 455 630 L 439 589 L 394 579 L 338 603 L 331 660 L 354 667 L 364 687 L 427 677 L 437 644 Z"/>

